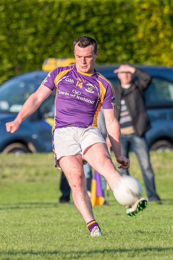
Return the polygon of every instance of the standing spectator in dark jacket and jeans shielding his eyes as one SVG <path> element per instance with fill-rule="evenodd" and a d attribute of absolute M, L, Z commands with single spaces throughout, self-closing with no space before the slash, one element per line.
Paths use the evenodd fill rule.
<path fill-rule="evenodd" d="M 146 72 L 122 64 L 118 73 L 120 82 L 115 89 L 116 117 L 121 128 L 121 153 L 129 158 L 129 148 L 136 153 L 142 170 L 149 201 L 160 202 L 154 184 L 154 174 L 150 164 L 149 149 L 145 140 L 145 133 L 151 128 L 149 118 L 144 107 L 144 91 L 151 83 L 151 76 Z M 133 76 L 138 80 L 133 81 Z M 107 142 L 109 145 L 109 140 Z M 120 169 L 123 175 L 129 175 L 128 169 Z"/>

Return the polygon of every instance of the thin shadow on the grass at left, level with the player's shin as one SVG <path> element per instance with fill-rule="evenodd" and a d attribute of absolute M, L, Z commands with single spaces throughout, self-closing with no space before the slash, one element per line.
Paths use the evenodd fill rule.
<path fill-rule="evenodd" d="M 7 203 L 0 205 L 0 210 L 4 209 L 36 209 L 36 208 L 55 208 L 60 206 L 60 203 L 56 202 L 21 202 L 21 203 Z"/>

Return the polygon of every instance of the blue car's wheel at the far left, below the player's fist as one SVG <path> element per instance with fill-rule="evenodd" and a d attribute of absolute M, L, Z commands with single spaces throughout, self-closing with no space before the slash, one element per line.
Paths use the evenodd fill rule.
<path fill-rule="evenodd" d="M 29 153 L 29 149 L 22 143 L 12 143 L 8 145 L 2 153 L 15 153 L 16 156 L 19 156 L 23 153 Z"/>

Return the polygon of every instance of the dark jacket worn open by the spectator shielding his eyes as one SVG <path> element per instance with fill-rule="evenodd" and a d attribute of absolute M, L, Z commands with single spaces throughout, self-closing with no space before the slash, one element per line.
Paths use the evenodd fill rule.
<path fill-rule="evenodd" d="M 120 82 L 115 89 L 116 117 L 119 121 L 121 99 L 123 96 L 132 117 L 132 125 L 135 130 L 135 135 L 142 136 L 148 129 L 151 128 L 150 121 L 144 107 L 144 91 L 151 83 L 151 76 L 137 68 L 134 76 L 137 76 L 138 80 L 133 81 L 130 88 L 126 91 L 123 90 Z"/>

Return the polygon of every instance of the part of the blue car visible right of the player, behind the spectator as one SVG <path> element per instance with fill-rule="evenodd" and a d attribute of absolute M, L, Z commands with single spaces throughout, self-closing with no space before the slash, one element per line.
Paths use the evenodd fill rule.
<path fill-rule="evenodd" d="M 119 79 L 113 70 L 117 68 L 99 69 L 115 88 Z M 152 82 L 145 91 L 145 106 L 151 123 L 151 129 L 146 133 L 148 146 L 151 150 L 169 151 L 173 149 L 173 69 L 162 66 L 139 68 L 152 76 Z"/>

